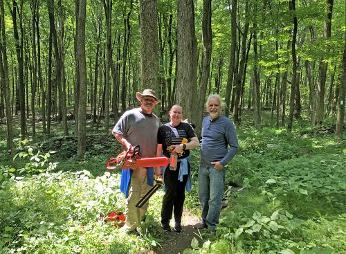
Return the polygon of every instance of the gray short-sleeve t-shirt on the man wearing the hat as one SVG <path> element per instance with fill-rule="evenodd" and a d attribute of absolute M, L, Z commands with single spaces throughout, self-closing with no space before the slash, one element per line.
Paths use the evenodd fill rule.
<path fill-rule="evenodd" d="M 140 145 L 142 158 L 155 157 L 157 131 L 160 119 L 154 114 L 145 114 L 136 108 L 126 111 L 116 123 L 113 132 L 126 138 L 131 145 Z"/>

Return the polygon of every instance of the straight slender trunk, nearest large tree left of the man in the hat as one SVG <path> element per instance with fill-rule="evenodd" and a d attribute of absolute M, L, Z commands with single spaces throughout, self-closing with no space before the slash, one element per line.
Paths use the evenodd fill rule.
<path fill-rule="evenodd" d="M 78 158 L 86 150 L 86 57 L 85 57 L 86 0 L 80 0 L 78 12 L 78 62 L 80 68 L 80 90 L 78 105 Z"/>

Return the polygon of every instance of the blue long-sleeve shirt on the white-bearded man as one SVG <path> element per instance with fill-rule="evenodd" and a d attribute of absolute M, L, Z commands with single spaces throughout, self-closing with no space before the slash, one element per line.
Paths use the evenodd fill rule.
<path fill-rule="evenodd" d="M 221 165 L 225 166 L 237 154 L 238 148 L 232 120 L 226 116 L 219 116 L 213 120 L 206 116 L 203 119 L 201 165 L 214 167 L 211 162 L 220 161 Z"/>

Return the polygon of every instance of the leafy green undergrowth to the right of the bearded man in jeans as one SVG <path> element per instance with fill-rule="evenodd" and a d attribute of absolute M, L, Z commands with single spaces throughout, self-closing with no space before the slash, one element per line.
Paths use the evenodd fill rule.
<path fill-rule="evenodd" d="M 184 253 L 346 253 L 346 147 L 332 135 L 238 131 L 215 235 Z"/>

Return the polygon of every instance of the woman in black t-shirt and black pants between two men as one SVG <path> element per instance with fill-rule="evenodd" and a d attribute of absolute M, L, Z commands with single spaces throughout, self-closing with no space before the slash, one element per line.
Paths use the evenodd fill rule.
<path fill-rule="evenodd" d="M 161 224 L 165 231 L 170 231 L 170 219 L 174 213 L 174 230 L 181 232 L 181 217 L 183 215 L 183 205 L 185 201 L 185 188 L 190 189 L 190 149 L 199 147 L 199 140 L 194 134 L 194 130 L 188 123 L 181 122 L 183 109 L 179 105 L 174 105 L 169 112 L 170 123 L 158 128 L 158 145 L 156 156 L 166 156 L 178 154 L 176 170 L 170 170 L 167 165 L 163 170 L 163 181 L 165 183 L 165 195 L 163 196 L 161 210 Z M 156 174 L 161 168 L 156 167 Z"/>

